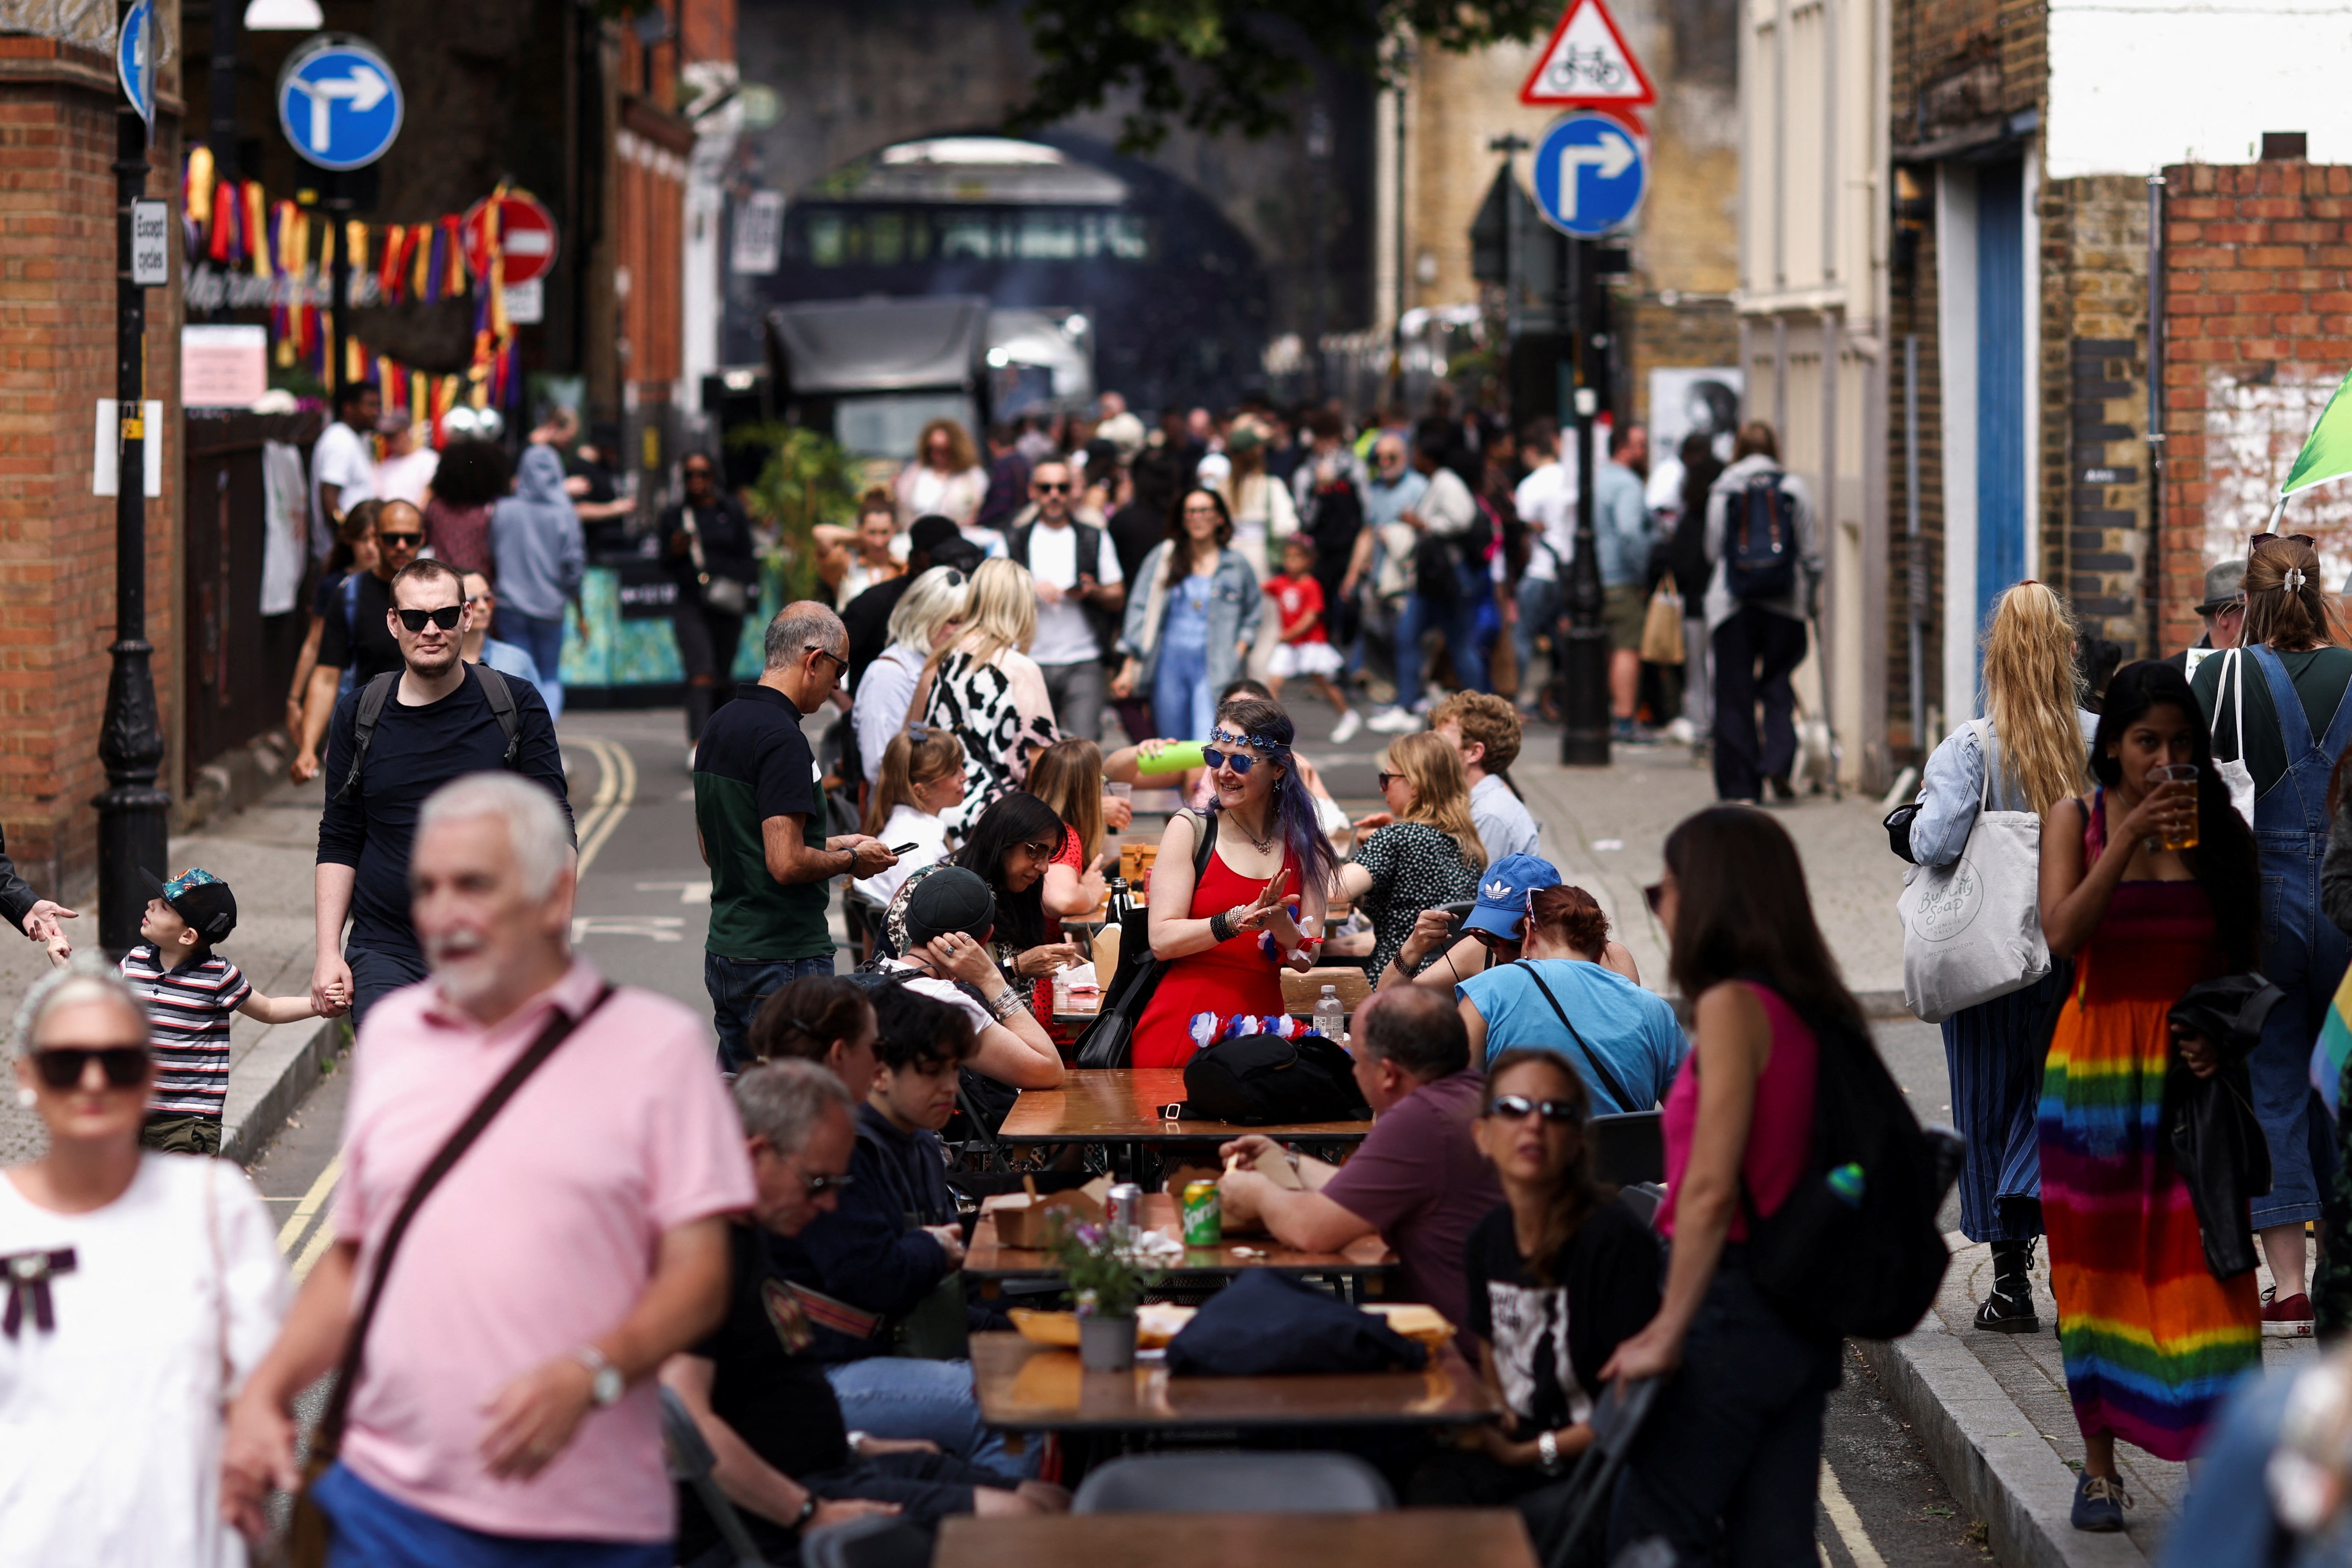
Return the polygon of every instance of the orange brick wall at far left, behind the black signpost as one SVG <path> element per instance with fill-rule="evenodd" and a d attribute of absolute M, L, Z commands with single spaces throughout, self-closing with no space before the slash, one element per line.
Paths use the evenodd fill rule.
<path fill-rule="evenodd" d="M 115 73 L 106 54 L 0 38 L 0 825 L 42 893 L 80 893 L 106 788 L 99 719 L 115 635 L 115 501 L 89 494 L 99 397 L 115 395 Z M 167 106 L 169 108 L 169 106 Z M 151 195 L 172 195 L 176 120 Z M 174 202 L 176 205 L 176 202 Z M 148 292 L 148 395 L 165 400 L 165 498 L 148 503 L 155 693 L 179 757 L 179 317 Z"/>

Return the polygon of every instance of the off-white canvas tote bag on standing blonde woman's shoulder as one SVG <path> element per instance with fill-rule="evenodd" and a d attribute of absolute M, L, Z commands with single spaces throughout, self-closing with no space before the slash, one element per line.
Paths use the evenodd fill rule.
<path fill-rule="evenodd" d="M 1922 1023 L 2025 990 L 2051 971 L 2042 940 L 2042 818 L 1992 811 L 1992 726 L 1971 722 L 1985 757 L 1976 825 L 1952 865 L 1903 879 L 1903 1004 Z"/>

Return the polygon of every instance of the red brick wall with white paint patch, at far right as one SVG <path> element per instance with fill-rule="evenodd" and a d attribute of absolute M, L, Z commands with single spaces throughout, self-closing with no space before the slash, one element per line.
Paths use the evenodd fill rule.
<path fill-rule="evenodd" d="M 2263 527 L 2326 395 L 2352 362 L 2352 167 L 2176 165 L 2164 172 L 2161 642 L 2197 639 L 2204 569 Z M 2352 494 L 2312 491 L 2281 531 L 2312 534 L 2340 583 Z"/>

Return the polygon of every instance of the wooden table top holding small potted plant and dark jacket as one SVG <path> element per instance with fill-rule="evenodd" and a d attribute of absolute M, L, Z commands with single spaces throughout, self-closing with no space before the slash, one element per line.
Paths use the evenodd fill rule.
<path fill-rule="evenodd" d="M 971 1335 L 981 1420 L 1014 1432 L 1181 1432 L 1188 1427 L 1470 1427 L 1501 1415 L 1451 1345 L 1418 1373 L 1171 1378 L 1162 1356 L 1089 1373 L 1075 1349 L 1018 1333 Z"/>

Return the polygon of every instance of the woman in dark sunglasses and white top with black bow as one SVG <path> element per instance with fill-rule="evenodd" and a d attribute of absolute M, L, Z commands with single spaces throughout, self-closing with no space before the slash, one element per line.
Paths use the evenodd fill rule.
<path fill-rule="evenodd" d="M 245 1563 L 221 1403 L 285 1316 L 268 1211 L 233 1164 L 139 1150 L 155 1060 L 115 976 L 45 976 L 14 1046 L 49 1150 L 0 1180 L 5 1556 Z"/>

